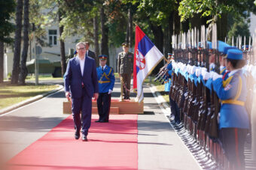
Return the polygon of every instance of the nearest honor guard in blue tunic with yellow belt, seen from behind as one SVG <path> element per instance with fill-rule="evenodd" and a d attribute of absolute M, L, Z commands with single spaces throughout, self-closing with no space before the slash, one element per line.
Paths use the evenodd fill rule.
<path fill-rule="evenodd" d="M 213 75 L 213 88 L 221 100 L 220 138 L 230 169 L 245 169 L 243 148 L 248 133 L 249 120 L 245 109 L 246 81 L 241 68 L 245 64 L 242 51 L 229 49 L 225 64 L 230 70 L 226 80 L 222 75 Z"/>

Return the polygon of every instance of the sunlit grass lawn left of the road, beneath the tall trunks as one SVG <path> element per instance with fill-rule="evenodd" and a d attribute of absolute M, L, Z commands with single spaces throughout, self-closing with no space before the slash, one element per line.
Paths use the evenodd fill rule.
<path fill-rule="evenodd" d="M 57 85 L 11 85 L 10 82 L 0 84 L 0 109 L 14 105 L 23 100 L 44 94 L 57 88 Z"/>

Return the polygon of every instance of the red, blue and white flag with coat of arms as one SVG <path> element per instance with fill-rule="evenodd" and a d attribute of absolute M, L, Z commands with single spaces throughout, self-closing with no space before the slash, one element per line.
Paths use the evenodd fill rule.
<path fill-rule="evenodd" d="M 136 25 L 135 38 L 133 89 L 137 91 L 136 101 L 141 103 L 144 98 L 142 84 L 154 70 L 154 67 L 163 59 L 163 54 L 138 25 Z"/>

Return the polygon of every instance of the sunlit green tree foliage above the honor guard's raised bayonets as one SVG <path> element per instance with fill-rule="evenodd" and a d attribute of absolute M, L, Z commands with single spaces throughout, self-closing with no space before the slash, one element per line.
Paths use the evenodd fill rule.
<path fill-rule="evenodd" d="M 178 11 L 181 22 L 190 19 L 200 13 L 201 17 L 210 16 L 207 22 L 216 22 L 218 29 L 218 40 L 224 40 L 227 36 L 227 13 L 239 16 L 245 10 L 256 12 L 256 7 L 251 0 L 182 0 Z"/>

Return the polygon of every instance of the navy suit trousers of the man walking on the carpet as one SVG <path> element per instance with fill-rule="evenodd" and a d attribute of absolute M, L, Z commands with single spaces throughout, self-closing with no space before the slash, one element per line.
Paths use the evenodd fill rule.
<path fill-rule="evenodd" d="M 76 131 L 82 129 L 82 133 L 87 136 L 92 119 L 92 97 L 84 89 L 81 98 L 72 98 L 72 115 Z"/>

